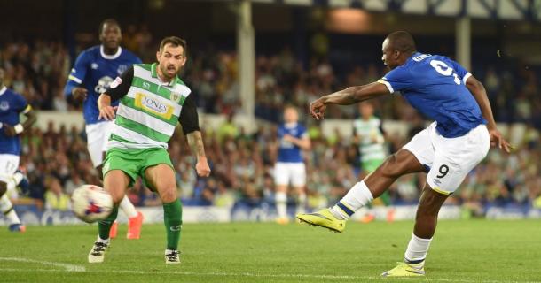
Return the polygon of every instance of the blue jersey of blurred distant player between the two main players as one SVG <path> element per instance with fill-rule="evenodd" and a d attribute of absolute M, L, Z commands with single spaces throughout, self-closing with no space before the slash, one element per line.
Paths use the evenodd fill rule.
<path fill-rule="evenodd" d="M 284 135 L 289 134 L 297 139 L 302 139 L 307 136 L 306 128 L 300 124 L 287 125 L 282 124 L 278 127 L 278 162 L 302 162 L 301 148 L 294 145 L 293 142 L 284 140 Z"/>

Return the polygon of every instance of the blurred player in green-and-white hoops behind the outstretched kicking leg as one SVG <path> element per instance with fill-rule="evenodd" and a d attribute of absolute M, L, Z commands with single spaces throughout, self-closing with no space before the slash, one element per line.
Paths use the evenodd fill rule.
<path fill-rule="evenodd" d="M 374 172 L 383 163 L 388 152 L 385 149 L 385 137 L 381 120 L 374 116 L 374 106 L 370 102 L 359 104 L 360 117 L 353 122 L 355 142 L 361 153 L 361 171 L 363 175 Z M 390 196 L 385 191 L 380 197 L 374 200 L 373 204 L 380 201 L 384 205 L 390 204 Z M 361 218 L 364 223 L 371 222 L 375 217 L 366 207 L 365 216 Z M 360 211 L 359 211 L 360 212 Z M 394 210 L 388 210 L 387 220 L 393 221 Z"/>

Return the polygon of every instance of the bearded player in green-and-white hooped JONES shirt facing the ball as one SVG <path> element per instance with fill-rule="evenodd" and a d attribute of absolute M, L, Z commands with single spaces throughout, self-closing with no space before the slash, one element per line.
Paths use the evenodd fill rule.
<path fill-rule="evenodd" d="M 104 188 L 112 195 L 115 207 L 109 217 L 98 223 L 99 235 L 90 250 L 90 263 L 103 262 L 118 204 L 139 176 L 146 187 L 160 195 L 163 203 L 167 233 L 165 262 L 180 263 L 182 206 L 176 195 L 174 166 L 167 152 L 167 142 L 179 121 L 197 157 L 198 175 L 210 174 L 195 101 L 190 88 L 177 77 L 186 63 L 185 55 L 183 39 L 166 37 L 156 52 L 158 64 L 133 65 L 99 96 L 99 118 L 115 119 L 103 167 Z M 119 99 L 118 106 L 111 106 L 112 101 Z"/>

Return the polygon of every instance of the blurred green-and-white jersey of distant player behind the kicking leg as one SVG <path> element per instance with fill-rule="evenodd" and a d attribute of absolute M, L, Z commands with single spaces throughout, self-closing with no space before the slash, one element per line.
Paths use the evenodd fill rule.
<path fill-rule="evenodd" d="M 360 136 L 359 149 L 363 162 L 374 159 L 384 159 L 387 154 L 383 147 L 383 133 L 381 133 L 381 120 L 372 116 L 368 120 L 362 118 L 353 122 L 355 134 Z"/>

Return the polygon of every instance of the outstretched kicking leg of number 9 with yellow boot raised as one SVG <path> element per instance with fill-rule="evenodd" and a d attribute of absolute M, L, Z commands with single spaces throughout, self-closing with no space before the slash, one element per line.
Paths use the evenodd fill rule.
<path fill-rule="evenodd" d="M 366 176 L 365 180 L 351 187 L 348 194 L 331 209 L 297 215 L 297 218 L 315 226 L 342 232 L 345 228 L 345 220 L 367 203 L 372 202 L 374 197 L 383 194 L 398 177 L 408 173 L 422 172 L 425 170 L 425 165 L 431 164 L 435 155 L 435 149 L 430 141 L 431 130 L 428 127 L 416 134 L 412 141 L 404 146 L 404 149 L 399 149 L 395 154 L 387 157 L 383 164 Z"/>

